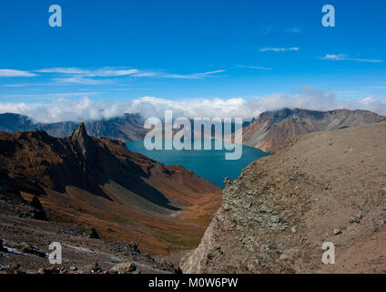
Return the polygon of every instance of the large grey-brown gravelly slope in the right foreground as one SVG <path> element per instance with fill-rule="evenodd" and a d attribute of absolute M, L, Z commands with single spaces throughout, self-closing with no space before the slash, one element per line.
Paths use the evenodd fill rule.
<path fill-rule="evenodd" d="M 184 273 L 386 269 L 386 121 L 293 138 L 226 181 Z M 325 242 L 335 265 L 321 262 Z"/>

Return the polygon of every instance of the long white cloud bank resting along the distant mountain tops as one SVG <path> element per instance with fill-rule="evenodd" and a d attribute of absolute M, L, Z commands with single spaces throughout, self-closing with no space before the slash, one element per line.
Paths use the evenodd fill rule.
<path fill-rule="evenodd" d="M 337 99 L 331 91 L 321 91 L 310 87 L 297 94 L 275 93 L 255 99 L 184 99 L 171 100 L 156 97 L 143 97 L 127 102 L 93 101 L 88 98 L 68 101 L 57 97 L 51 104 L 43 106 L 25 103 L 1 103 L 0 113 L 15 112 L 24 114 L 40 122 L 65 120 L 102 120 L 122 116 L 126 112 L 139 112 L 144 118 L 163 118 L 165 110 L 173 110 L 173 117 L 187 118 L 244 118 L 258 117 L 266 110 L 283 108 L 305 110 L 371 110 L 386 116 L 386 99 L 367 96 L 363 99 Z"/>

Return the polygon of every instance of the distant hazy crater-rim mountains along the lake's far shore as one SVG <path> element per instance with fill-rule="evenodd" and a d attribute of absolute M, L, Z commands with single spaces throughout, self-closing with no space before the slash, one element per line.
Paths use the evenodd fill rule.
<path fill-rule="evenodd" d="M 271 151 L 289 138 L 313 131 L 339 130 L 362 126 L 384 120 L 385 117 L 368 110 L 273 110 L 266 111 L 257 119 L 243 123 L 243 144 L 262 151 Z M 127 113 L 110 120 L 86 121 L 87 132 L 91 136 L 116 139 L 119 141 L 137 141 L 145 138 L 145 120 L 140 114 Z M 15 132 L 45 130 L 57 138 L 68 137 L 75 129 L 75 121 L 56 123 L 34 123 L 30 118 L 14 113 L 0 114 L 0 131 Z M 194 129 L 191 121 L 192 138 L 198 137 L 199 130 Z M 232 133 L 235 125 L 232 124 Z M 178 130 L 173 130 L 176 133 Z M 211 137 L 214 137 L 214 127 Z M 234 135 L 234 133 L 232 134 Z M 205 137 L 210 138 L 210 137 Z"/>

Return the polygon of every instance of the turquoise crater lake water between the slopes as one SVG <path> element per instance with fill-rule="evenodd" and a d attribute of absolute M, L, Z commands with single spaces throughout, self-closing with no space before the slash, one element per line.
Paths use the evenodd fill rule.
<path fill-rule="evenodd" d="M 225 159 L 226 152 L 214 150 L 214 140 L 212 150 L 153 150 L 147 151 L 144 141 L 131 141 L 126 143 L 130 151 L 143 154 L 157 162 L 167 165 L 182 165 L 188 170 L 195 172 L 208 181 L 217 184 L 220 188 L 224 187 L 224 179 L 235 179 L 241 170 L 247 167 L 250 162 L 258 160 L 260 157 L 267 156 L 269 153 L 259 151 L 259 149 L 242 146 L 242 155 L 239 160 L 230 161 Z M 193 147 L 192 147 L 193 148 Z"/>

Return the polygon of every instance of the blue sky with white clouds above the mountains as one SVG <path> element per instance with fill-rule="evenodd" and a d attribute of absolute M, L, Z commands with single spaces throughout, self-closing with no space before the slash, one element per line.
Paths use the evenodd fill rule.
<path fill-rule="evenodd" d="M 62 26 L 49 26 L 50 5 Z M 324 27 L 323 5 L 335 7 Z M 251 118 L 264 110 L 386 115 L 381 0 L 4 0 L 0 112 L 37 121 L 174 110 Z"/>

